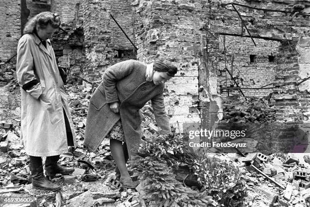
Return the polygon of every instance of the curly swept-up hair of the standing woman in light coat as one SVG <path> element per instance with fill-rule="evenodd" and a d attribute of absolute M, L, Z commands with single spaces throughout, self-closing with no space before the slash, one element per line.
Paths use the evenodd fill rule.
<path fill-rule="evenodd" d="M 24 34 L 33 33 L 37 26 L 44 29 L 48 24 L 51 24 L 53 28 L 58 28 L 60 26 L 60 18 L 58 16 L 58 14 L 53 14 L 51 12 L 37 14 L 26 23 L 23 32 Z"/>

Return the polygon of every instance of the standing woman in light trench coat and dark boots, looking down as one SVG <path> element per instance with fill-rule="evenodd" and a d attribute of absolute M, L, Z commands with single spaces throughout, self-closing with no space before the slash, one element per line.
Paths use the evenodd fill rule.
<path fill-rule="evenodd" d="M 17 79 L 21 88 L 21 138 L 30 156 L 33 188 L 58 190 L 43 174 L 67 175 L 73 168 L 57 165 L 61 153 L 76 146 L 64 83 L 49 38 L 60 26 L 57 14 L 43 12 L 30 19 L 17 47 Z"/>

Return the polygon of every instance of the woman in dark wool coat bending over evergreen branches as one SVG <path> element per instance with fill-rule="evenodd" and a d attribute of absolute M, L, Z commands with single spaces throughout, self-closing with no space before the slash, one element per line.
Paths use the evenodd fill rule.
<path fill-rule="evenodd" d="M 115 170 L 124 187 L 134 188 L 126 162 L 136 156 L 142 137 L 140 109 L 151 100 L 161 133 L 170 133 L 165 112 L 165 82 L 177 68 L 168 62 L 153 64 L 129 60 L 109 67 L 94 92 L 87 115 L 84 145 L 95 151 L 104 137 L 110 139 Z M 123 144 L 124 142 L 124 144 Z"/>

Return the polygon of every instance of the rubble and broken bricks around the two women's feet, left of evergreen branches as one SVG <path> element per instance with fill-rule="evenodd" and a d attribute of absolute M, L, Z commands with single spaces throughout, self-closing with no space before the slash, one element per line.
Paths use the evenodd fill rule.
<path fill-rule="evenodd" d="M 115 177 L 109 140 L 104 140 L 95 153 L 84 148 L 86 116 L 93 88 L 66 85 L 78 148 L 73 154 L 68 152 L 61 155 L 59 164 L 73 167 L 75 171 L 72 175 L 58 175 L 53 179 L 53 182 L 62 186 L 62 191 L 56 193 L 32 189 L 28 156 L 19 138 L 20 113 L 16 116 L 14 112 L 20 106 L 20 99 L 7 107 L 9 96 L 20 93 L 16 80 L 3 87 L 3 90 L 6 97 L 1 102 L 5 113 L 0 116 L 1 196 L 18 194 L 31 198 L 33 202 L 25 206 L 145 206 L 139 198 L 139 192 L 123 189 L 119 183 L 109 179 Z M 137 177 L 133 176 L 135 179 Z"/>

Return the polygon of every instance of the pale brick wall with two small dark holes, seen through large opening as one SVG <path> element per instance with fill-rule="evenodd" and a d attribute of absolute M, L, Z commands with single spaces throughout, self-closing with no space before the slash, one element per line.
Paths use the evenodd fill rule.
<path fill-rule="evenodd" d="M 226 53 L 224 60 L 219 62 L 218 85 L 220 88 L 226 87 L 226 85 L 227 87 L 236 87 L 229 73 L 225 71 L 225 67 L 235 77 L 235 80 L 241 87 L 260 88 L 273 83 L 275 80 L 274 69 L 277 65 L 276 56 L 278 56 L 279 41 L 255 39 L 257 45 L 255 46 L 250 37 L 219 35 L 219 38 L 220 51 Z M 238 90 L 229 90 L 229 93 L 231 94 L 235 91 L 238 92 Z M 244 89 L 243 93 L 246 96 L 264 97 L 272 91 L 273 89 L 271 88 L 262 90 Z M 227 93 L 222 93 L 222 97 L 225 97 L 225 95 Z"/>

